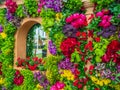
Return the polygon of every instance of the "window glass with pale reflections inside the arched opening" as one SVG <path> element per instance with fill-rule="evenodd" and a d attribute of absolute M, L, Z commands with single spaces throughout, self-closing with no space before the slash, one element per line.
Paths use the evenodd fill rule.
<path fill-rule="evenodd" d="M 26 55 L 32 57 L 44 58 L 47 53 L 46 33 L 40 24 L 35 24 L 28 32 Z"/>

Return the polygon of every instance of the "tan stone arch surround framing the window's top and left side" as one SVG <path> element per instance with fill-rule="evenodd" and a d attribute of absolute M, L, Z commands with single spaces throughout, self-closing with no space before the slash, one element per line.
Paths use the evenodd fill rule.
<path fill-rule="evenodd" d="M 21 22 L 21 26 L 15 33 L 15 47 L 14 47 L 14 68 L 15 69 L 22 69 L 21 67 L 18 68 L 16 66 L 17 58 L 26 58 L 26 38 L 30 28 L 34 24 L 41 24 L 41 18 L 25 18 Z M 47 50 L 48 52 L 48 50 Z"/>

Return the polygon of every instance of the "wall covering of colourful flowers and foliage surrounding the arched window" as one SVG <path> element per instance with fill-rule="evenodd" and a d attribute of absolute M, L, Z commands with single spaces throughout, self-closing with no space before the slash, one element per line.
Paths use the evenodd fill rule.
<path fill-rule="evenodd" d="M 7 0 L 7 8 L 0 9 L 0 88 L 119 90 L 120 3 L 91 3 L 94 13 L 88 23 L 80 0 L 24 0 L 22 5 Z M 14 34 L 26 17 L 42 18 L 51 55 L 42 59 L 18 57 L 18 67 L 26 65 L 19 71 L 13 69 Z M 35 67 L 38 71 L 33 73 Z"/>

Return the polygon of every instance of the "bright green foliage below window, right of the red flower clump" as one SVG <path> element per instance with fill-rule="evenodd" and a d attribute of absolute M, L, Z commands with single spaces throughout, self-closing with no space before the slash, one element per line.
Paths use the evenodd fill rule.
<path fill-rule="evenodd" d="M 21 70 L 21 74 L 24 76 L 24 82 L 21 86 L 14 86 L 13 90 L 34 90 L 34 75 L 30 70 Z"/>

